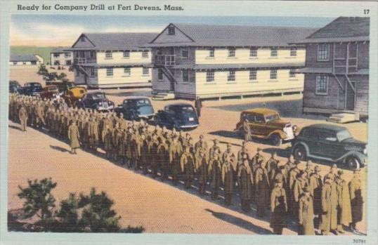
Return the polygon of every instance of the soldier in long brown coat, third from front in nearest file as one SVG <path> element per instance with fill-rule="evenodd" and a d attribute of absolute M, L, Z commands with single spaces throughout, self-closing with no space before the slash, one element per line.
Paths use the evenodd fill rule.
<path fill-rule="evenodd" d="M 249 212 L 251 210 L 252 188 L 253 188 L 253 174 L 249 167 L 247 154 L 243 155 L 242 164 L 240 164 L 237 171 L 237 184 L 240 187 L 240 199 L 242 202 L 242 211 Z"/>

